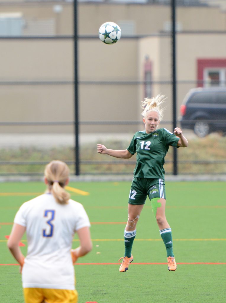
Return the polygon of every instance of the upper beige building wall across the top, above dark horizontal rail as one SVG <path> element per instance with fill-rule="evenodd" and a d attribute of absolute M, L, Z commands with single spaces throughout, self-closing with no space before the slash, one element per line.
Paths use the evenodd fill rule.
<path fill-rule="evenodd" d="M 57 28 L 59 29 L 56 34 L 72 35 L 73 33 L 73 2 L 0 0 L 0 4 L 1 13 L 21 12 L 25 19 L 33 20 L 54 19 L 55 32 Z M 56 13 L 55 6 L 59 5 L 62 10 Z M 178 30 L 226 30 L 226 12 L 220 7 L 178 6 L 176 15 Z M 129 3 L 78 3 L 79 35 L 97 35 L 100 25 L 107 21 L 114 21 L 122 27 L 125 22 L 132 22 L 134 34 L 149 35 L 166 30 L 167 23 L 171 21 L 171 7 L 169 5 Z"/>

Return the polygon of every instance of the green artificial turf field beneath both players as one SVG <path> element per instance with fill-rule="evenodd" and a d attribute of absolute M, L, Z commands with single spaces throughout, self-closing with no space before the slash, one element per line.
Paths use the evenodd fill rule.
<path fill-rule="evenodd" d="M 167 182 L 166 216 L 178 269 L 168 271 L 165 246 L 147 200 L 137 225 L 134 262 L 118 271 L 124 255 L 130 182 L 71 182 L 70 192 L 91 221 L 93 250 L 75 265 L 79 303 L 223 303 L 226 301 L 225 182 Z M 40 182 L 0 183 L 0 302 L 22 303 L 21 275 L 6 247 L 19 206 L 45 191 Z M 26 238 L 21 247 L 26 254 Z M 75 237 L 73 248 L 78 246 Z M 91 264 L 81 263 L 113 263 Z M 187 264 L 180 264 L 187 263 Z M 196 263 L 196 264 L 192 264 Z M 212 264 L 197 264 L 212 263 Z M 214 264 L 215 263 L 215 264 Z M 224 263 L 224 264 L 216 264 Z"/>

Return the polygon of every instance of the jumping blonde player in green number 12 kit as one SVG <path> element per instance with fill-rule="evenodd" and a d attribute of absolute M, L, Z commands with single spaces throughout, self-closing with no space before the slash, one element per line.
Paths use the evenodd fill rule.
<path fill-rule="evenodd" d="M 152 211 L 166 247 L 168 270 L 175 271 L 177 268 L 173 254 L 171 228 L 165 217 L 166 195 L 163 165 L 170 145 L 186 147 L 188 141 L 178 127 L 174 129 L 174 134 L 165 128 L 157 129 L 163 117 L 164 108 L 162 108 L 162 103 L 165 100 L 164 97 L 158 95 L 155 98 L 145 98 L 145 101 L 142 102 L 145 130 L 135 133 L 127 149 L 113 150 L 102 144 L 97 145 L 98 153 L 116 158 L 128 159 L 137 153 L 128 200 L 128 221 L 124 231 L 125 256 L 119 259 L 123 259 L 119 268 L 121 272 L 127 271 L 129 263 L 133 261 L 131 251 L 136 236 L 136 225 L 147 195 L 151 201 Z"/>

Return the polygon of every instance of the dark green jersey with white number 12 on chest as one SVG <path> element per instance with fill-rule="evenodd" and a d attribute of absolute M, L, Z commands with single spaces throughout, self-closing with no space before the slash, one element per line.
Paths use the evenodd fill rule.
<path fill-rule="evenodd" d="M 176 147 L 178 141 L 179 138 L 166 128 L 159 128 L 150 134 L 136 132 L 127 148 L 132 155 L 137 153 L 134 177 L 164 179 L 165 155 L 169 146 Z"/>

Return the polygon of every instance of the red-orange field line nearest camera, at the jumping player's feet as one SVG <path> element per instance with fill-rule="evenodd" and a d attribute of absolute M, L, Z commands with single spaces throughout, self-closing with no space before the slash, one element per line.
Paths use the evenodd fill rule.
<path fill-rule="evenodd" d="M 121 263 L 75 263 L 74 265 L 120 265 Z M 166 262 L 140 262 L 132 265 L 166 265 Z M 226 265 L 226 262 L 177 262 L 178 265 Z M 16 263 L 0 264 L 0 266 L 19 266 Z"/>

